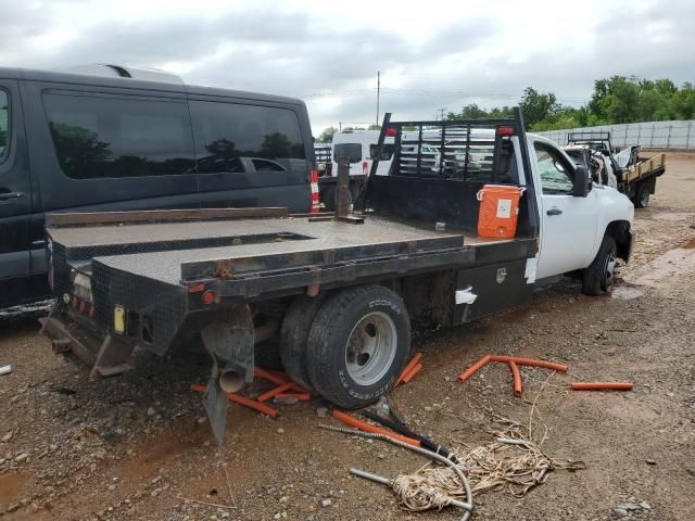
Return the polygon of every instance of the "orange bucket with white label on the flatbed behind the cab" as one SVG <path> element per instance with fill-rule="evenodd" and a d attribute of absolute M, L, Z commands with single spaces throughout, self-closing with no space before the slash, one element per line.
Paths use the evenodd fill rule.
<path fill-rule="evenodd" d="M 517 234 L 517 217 L 522 187 L 484 185 L 478 192 L 478 237 L 511 239 Z"/>

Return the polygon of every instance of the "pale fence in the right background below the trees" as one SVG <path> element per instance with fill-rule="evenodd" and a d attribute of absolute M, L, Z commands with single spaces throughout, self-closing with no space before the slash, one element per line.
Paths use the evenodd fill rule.
<path fill-rule="evenodd" d="M 610 132 L 616 148 L 641 144 L 645 149 L 695 149 L 695 120 L 647 122 L 598 127 L 568 128 L 536 132 L 560 145 L 567 144 L 567 134 L 577 131 Z"/>

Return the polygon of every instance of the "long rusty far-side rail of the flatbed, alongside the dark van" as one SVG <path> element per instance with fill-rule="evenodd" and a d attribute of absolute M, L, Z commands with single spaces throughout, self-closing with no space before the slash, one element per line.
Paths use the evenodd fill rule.
<path fill-rule="evenodd" d="M 198 209 L 147 209 L 137 212 L 92 212 L 92 213 L 65 213 L 48 214 L 47 227 L 66 226 L 100 226 L 117 223 L 144 224 L 144 223 L 181 223 L 190 220 L 212 219 L 250 219 L 287 217 L 288 211 L 283 207 L 260 208 L 198 208 Z"/>

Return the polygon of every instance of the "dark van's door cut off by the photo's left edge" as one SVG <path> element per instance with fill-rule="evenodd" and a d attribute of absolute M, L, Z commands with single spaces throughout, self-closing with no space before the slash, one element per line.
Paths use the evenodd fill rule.
<path fill-rule="evenodd" d="M 0 288 L 29 275 L 30 214 L 31 183 L 18 86 L 15 80 L 0 79 Z"/>

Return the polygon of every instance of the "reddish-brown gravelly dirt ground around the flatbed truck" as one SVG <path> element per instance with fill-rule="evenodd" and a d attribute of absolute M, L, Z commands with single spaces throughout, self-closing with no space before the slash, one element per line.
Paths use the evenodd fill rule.
<path fill-rule="evenodd" d="M 610 297 L 573 282 L 527 307 L 454 330 L 419 333 L 425 369 L 393 393 L 417 431 L 465 452 L 491 442 L 490 410 L 547 429 L 544 450 L 585 470 L 552 471 L 522 498 L 475 497 L 472 520 L 692 520 L 695 506 L 695 154 L 670 153 L 639 241 Z M 570 374 L 522 369 L 523 396 L 493 354 L 569 364 Z M 421 457 L 319 430 L 318 401 L 269 419 L 233 406 L 227 443 L 211 445 L 200 397 L 207 359 L 139 355 L 128 374 L 92 382 L 51 354 L 34 316 L 0 323 L 0 517 L 9 520 L 454 520 L 460 511 L 401 510 L 390 490 L 351 467 L 395 476 Z M 633 381 L 628 393 L 580 393 L 573 380 Z M 544 384 L 545 382 L 545 384 Z M 257 393 L 251 387 L 248 392 Z M 230 494 L 232 497 L 230 497 Z M 328 505 L 330 499 L 330 505 Z M 206 504 L 236 506 L 220 508 Z M 627 505 L 620 510 L 621 505 Z M 328 505 L 328 506 L 324 506 Z"/>

